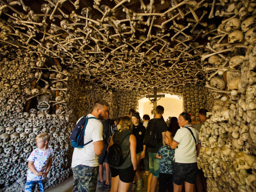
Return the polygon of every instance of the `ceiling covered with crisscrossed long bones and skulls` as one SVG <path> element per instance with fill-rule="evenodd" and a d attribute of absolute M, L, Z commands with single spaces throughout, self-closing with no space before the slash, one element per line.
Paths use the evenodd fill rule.
<path fill-rule="evenodd" d="M 230 15 L 220 1 L 1 0 L 0 42 L 58 58 L 102 87 L 201 83 L 214 66 L 201 55 Z"/>

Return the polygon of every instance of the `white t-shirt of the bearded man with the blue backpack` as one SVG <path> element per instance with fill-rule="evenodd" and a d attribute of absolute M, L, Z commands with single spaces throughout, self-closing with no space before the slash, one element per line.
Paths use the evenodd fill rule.
<path fill-rule="evenodd" d="M 88 117 L 95 117 L 92 114 L 88 114 Z M 77 122 L 80 120 L 79 118 Z M 77 123 L 76 122 L 76 123 Z M 83 146 L 83 148 L 74 148 L 72 156 L 71 167 L 75 167 L 79 164 L 86 166 L 98 166 L 98 155 L 94 151 L 94 142 L 103 140 L 103 125 L 98 119 L 88 119 L 88 123 L 84 131 L 84 144 L 90 142 Z"/>

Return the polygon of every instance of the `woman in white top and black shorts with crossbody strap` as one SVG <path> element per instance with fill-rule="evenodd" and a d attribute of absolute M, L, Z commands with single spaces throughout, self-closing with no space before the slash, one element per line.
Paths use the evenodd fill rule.
<path fill-rule="evenodd" d="M 182 112 L 178 116 L 179 128 L 171 139 L 170 133 L 165 132 L 169 145 L 175 149 L 173 163 L 173 191 L 181 192 L 185 181 L 185 192 L 193 192 L 197 173 L 197 154 L 199 153 L 199 132 L 192 127 L 190 114 Z"/>

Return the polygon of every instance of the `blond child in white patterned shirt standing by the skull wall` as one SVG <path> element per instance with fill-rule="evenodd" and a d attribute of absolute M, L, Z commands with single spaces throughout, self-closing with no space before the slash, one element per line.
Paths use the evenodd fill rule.
<path fill-rule="evenodd" d="M 48 147 L 50 136 L 46 132 L 43 132 L 38 134 L 35 140 L 37 148 L 27 158 L 28 171 L 25 192 L 34 191 L 36 184 L 37 191 L 44 191 L 46 176 L 52 163 L 53 150 Z"/>

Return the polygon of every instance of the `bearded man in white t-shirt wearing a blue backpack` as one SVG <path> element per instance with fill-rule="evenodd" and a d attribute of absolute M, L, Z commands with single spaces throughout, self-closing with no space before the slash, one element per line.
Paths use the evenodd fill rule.
<path fill-rule="evenodd" d="M 103 125 L 99 120 L 106 118 L 108 106 L 104 100 L 96 101 L 92 112 L 79 118 L 71 133 L 73 187 L 77 184 L 79 192 L 96 190 L 98 155 L 104 148 Z"/>

